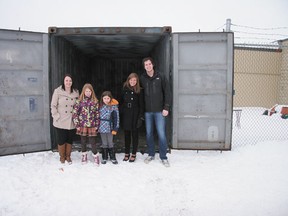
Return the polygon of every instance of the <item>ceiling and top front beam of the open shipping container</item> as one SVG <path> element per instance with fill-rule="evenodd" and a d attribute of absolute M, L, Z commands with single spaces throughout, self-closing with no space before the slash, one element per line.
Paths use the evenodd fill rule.
<path fill-rule="evenodd" d="M 164 27 L 49 27 L 50 36 L 63 37 L 92 57 L 138 58 L 149 55 L 172 28 Z"/>

